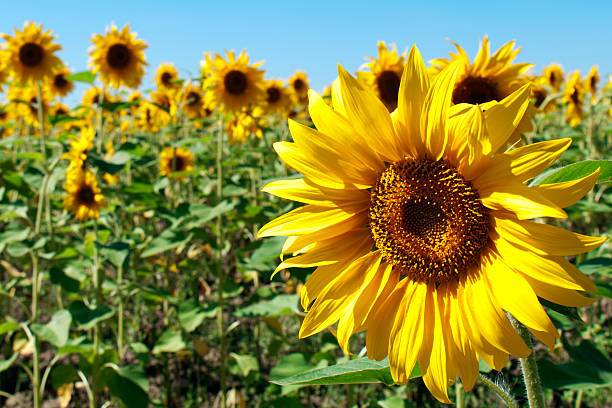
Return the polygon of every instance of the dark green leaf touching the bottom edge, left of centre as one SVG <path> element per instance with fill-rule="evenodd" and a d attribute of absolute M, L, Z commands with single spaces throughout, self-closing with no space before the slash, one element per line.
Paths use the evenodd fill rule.
<path fill-rule="evenodd" d="M 147 408 L 149 406 L 149 382 L 142 368 L 107 366 L 103 375 L 108 391 L 114 398 L 121 401 L 123 406 L 126 408 Z"/>

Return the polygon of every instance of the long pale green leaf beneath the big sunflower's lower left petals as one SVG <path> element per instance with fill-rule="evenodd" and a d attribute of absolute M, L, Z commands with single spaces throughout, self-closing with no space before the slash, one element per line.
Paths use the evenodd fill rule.
<path fill-rule="evenodd" d="M 418 366 L 414 368 L 410 378 L 420 377 Z M 394 384 L 389 369 L 389 361 L 374 361 L 366 357 L 338 363 L 333 366 L 316 368 L 301 374 L 295 374 L 280 380 L 270 381 L 277 385 L 330 385 L 330 384 L 362 384 L 383 383 Z"/>

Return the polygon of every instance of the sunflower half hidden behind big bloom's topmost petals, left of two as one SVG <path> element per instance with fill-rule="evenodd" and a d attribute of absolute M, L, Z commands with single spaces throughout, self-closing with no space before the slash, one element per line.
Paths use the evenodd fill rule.
<path fill-rule="evenodd" d="M 406 53 L 399 56 L 395 45 L 389 50 L 384 41 L 379 41 L 378 58 L 366 57 L 366 59 L 370 62 L 363 64 L 361 68 L 367 68 L 367 71 L 357 72 L 357 78 L 378 95 L 389 112 L 393 112 L 397 108 L 397 93 Z"/>

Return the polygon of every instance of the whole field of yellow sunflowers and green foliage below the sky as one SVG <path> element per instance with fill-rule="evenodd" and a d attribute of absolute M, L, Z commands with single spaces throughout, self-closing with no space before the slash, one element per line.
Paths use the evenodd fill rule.
<path fill-rule="evenodd" d="M 379 42 L 319 94 L 0 41 L 0 406 L 612 406 L 597 68 Z"/>

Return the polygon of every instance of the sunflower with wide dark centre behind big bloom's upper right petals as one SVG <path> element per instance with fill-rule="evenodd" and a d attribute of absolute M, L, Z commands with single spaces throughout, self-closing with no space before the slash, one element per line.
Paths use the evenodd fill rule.
<path fill-rule="evenodd" d="M 450 59 L 435 59 L 431 61 L 433 65 L 429 68 L 429 72 L 435 75 L 451 62 L 458 64 L 457 81 L 452 94 L 454 104 L 481 104 L 487 109 L 529 82 L 529 78 L 524 74 L 533 64 L 512 63 L 521 50 L 520 47 L 514 49 L 514 41 L 506 43 L 490 55 L 489 39 L 485 36 L 474 62 L 470 62 L 461 46 L 454 45 L 457 54 L 451 52 Z M 531 118 L 536 112 L 533 106 L 528 107 L 513 137 L 508 139 L 508 144 L 515 143 L 520 139 L 521 133 L 533 129 Z"/>

